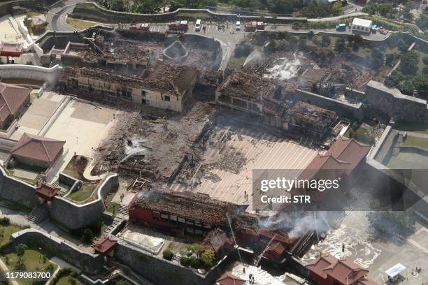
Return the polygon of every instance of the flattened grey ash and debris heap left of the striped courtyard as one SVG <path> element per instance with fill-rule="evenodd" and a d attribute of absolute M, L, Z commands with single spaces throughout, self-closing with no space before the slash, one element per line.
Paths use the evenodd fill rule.
<path fill-rule="evenodd" d="M 120 112 L 110 135 L 94 154 L 96 172 L 119 173 L 128 183 L 136 177 L 166 182 L 185 156 L 192 156 L 191 147 L 213 112 L 211 105 L 201 102 L 195 102 L 183 117 Z"/>

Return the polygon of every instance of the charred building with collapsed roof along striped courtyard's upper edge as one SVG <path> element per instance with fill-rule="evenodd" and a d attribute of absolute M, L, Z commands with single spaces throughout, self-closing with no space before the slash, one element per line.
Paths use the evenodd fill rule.
<path fill-rule="evenodd" d="M 217 91 L 217 105 L 262 117 L 263 122 L 289 133 L 322 139 L 336 121 L 336 113 L 309 103 L 287 100 L 282 85 L 259 75 L 236 72 Z"/>

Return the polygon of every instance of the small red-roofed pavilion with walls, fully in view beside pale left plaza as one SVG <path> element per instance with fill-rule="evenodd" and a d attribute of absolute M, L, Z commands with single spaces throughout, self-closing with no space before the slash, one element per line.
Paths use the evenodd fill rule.
<path fill-rule="evenodd" d="M 62 155 L 64 144 L 64 140 L 24 133 L 10 151 L 10 156 L 22 163 L 48 168 Z"/>

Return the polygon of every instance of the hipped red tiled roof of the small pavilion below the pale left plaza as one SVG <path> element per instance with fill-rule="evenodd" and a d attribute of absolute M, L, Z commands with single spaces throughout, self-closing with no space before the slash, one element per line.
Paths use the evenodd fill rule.
<path fill-rule="evenodd" d="M 61 151 L 65 141 L 54 140 L 24 133 L 10 154 L 27 157 L 38 161 L 52 162 Z"/>

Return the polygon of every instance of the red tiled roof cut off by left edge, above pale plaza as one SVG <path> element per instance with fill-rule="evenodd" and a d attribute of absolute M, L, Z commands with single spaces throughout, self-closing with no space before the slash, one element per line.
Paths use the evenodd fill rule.
<path fill-rule="evenodd" d="M 29 97 L 31 89 L 0 82 L 0 122 L 14 115 Z"/>

